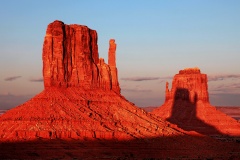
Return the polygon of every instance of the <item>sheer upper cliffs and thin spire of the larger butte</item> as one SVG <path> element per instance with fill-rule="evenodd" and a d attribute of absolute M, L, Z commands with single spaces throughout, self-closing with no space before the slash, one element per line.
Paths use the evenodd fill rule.
<path fill-rule="evenodd" d="M 105 64 L 98 56 L 95 30 L 54 21 L 47 27 L 43 44 L 44 86 L 113 89 L 120 93 L 115 54 L 115 40 L 110 40 L 111 64 Z"/>

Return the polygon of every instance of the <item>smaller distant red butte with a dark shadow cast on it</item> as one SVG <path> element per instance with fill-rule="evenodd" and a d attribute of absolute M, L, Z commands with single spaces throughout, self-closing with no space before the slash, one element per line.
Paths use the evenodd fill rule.
<path fill-rule="evenodd" d="M 152 113 L 186 131 L 240 136 L 240 124 L 210 105 L 207 82 L 207 75 L 198 68 L 180 70 L 173 78 L 171 90 L 166 83 L 165 103 Z"/>

